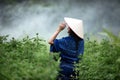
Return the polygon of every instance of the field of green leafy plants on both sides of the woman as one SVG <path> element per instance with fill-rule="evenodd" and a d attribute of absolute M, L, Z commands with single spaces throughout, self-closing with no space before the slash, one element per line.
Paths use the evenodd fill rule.
<path fill-rule="evenodd" d="M 108 38 L 98 42 L 85 39 L 85 51 L 78 64 L 80 80 L 120 79 L 120 38 L 105 31 Z M 49 45 L 36 37 L 11 40 L 0 36 L 0 80 L 55 80 L 59 58 L 54 60 Z"/>

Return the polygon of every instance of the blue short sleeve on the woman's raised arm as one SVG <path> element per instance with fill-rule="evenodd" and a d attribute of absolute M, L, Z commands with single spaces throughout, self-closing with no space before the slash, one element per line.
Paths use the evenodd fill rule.
<path fill-rule="evenodd" d="M 54 40 L 54 44 L 50 45 L 50 52 L 59 52 L 61 51 L 61 41 L 63 41 L 62 39 L 55 39 Z"/>

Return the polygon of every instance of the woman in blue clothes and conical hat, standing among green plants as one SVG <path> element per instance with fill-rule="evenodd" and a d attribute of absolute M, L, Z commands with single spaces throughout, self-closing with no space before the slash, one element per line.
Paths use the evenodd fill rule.
<path fill-rule="evenodd" d="M 75 79 L 78 74 L 75 71 L 75 63 L 78 63 L 84 52 L 83 25 L 82 20 L 74 18 L 64 18 L 52 37 L 49 39 L 50 51 L 60 52 L 60 72 L 58 80 Z M 62 39 L 56 39 L 57 35 L 68 26 L 69 36 Z M 73 80 L 73 79 L 72 79 Z"/>

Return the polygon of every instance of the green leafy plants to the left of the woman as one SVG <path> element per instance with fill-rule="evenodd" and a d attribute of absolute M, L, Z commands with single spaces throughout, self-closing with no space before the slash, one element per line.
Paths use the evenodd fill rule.
<path fill-rule="evenodd" d="M 0 79 L 2 80 L 54 80 L 58 64 L 49 54 L 46 42 L 28 36 L 22 40 L 1 36 Z M 51 65 L 52 64 L 52 65 Z"/>

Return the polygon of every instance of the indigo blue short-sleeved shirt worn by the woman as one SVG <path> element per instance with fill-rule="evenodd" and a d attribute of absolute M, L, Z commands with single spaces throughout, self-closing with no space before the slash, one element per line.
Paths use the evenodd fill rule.
<path fill-rule="evenodd" d="M 73 64 L 79 61 L 79 55 L 84 52 L 84 40 L 79 41 L 78 49 L 76 45 L 72 36 L 55 39 L 54 44 L 50 46 L 50 52 L 60 52 L 61 62 Z"/>

